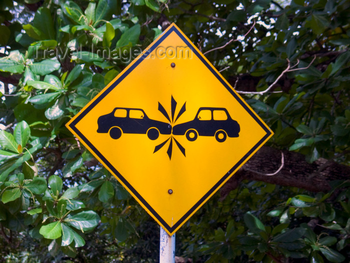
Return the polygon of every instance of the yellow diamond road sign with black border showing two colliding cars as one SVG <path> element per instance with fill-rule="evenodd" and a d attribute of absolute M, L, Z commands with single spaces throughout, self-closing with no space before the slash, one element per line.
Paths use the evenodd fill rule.
<path fill-rule="evenodd" d="M 273 134 L 174 24 L 67 127 L 170 235 Z"/>

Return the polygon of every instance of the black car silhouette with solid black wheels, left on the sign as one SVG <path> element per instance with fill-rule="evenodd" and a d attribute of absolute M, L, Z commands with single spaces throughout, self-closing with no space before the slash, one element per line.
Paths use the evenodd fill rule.
<path fill-rule="evenodd" d="M 111 113 L 102 115 L 97 120 L 97 133 L 108 133 L 118 139 L 122 133 L 147 134 L 155 140 L 160 134 L 171 134 L 171 125 L 149 119 L 142 109 L 115 108 Z"/>

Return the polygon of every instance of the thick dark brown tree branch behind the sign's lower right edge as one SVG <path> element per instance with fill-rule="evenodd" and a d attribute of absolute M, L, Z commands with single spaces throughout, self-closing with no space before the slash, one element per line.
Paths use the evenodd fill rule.
<path fill-rule="evenodd" d="M 262 181 L 282 186 L 303 188 L 312 192 L 327 192 L 331 189 L 329 182 L 350 178 L 350 167 L 331 160 L 320 158 L 313 163 L 305 161 L 305 156 L 283 150 L 284 165 L 281 166 L 281 151 L 261 147 L 222 187 L 221 198 L 235 189 L 242 180 Z M 254 172 L 256 171 L 256 172 Z"/>

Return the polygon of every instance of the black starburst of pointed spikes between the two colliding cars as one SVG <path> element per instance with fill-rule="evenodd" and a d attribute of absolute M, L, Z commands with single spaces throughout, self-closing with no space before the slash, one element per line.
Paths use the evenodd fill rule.
<path fill-rule="evenodd" d="M 174 98 L 171 96 L 171 112 L 170 112 L 170 116 L 167 114 L 166 110 L 164 109 L 164 107 L 160 104 L 160 102 L 158 102 L 158 111 L 161 112 L 161 114 L 164 115 L 164 117 L 169 121 L 171 127 L 173 128 L 176 121 L 178 120 L 178 118 L 186 111 L 186 102 L 183 103 L 181 109 L 179 110 L 179 112 L 177 113 L 177 116 L 175 117 L 175 111 L 176 111 L 176 106 L 177 106 L 177 102 L 174 100 Z M 183 154 L 183 156 L 186 157 L 186 153 L 185 153 L 185 149 L 183 148 L 183 146 L 173 137 L 172 133 L 170 135 L 169 138 L 167 138 L 165 141 L 163 141 L 162 143 L 160 143 L 159 145 L 154 147 L 154 151 L 153 153 L 159 151 L 164 145 L 166 145 L 166 143 L 169 142 L 169 145 L 167 147 L 167 155 L 169 156 L 169 159 L 171 160 L 171 154 L 172 154 L 172 146 L 174 144 L 177 145 L 178 149 L 181 151 L 181 153 Z M 173 143 L 174 142 L 174 143 Z"/>

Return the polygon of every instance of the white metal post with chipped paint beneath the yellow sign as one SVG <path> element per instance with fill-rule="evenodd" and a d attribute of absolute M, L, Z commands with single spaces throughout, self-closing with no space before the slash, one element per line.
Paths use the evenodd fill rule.
<path fill-rule="evenodd" d="M 159 263 L 175 263 L 175 234 L 168 235 L 161 226 Z"/>

